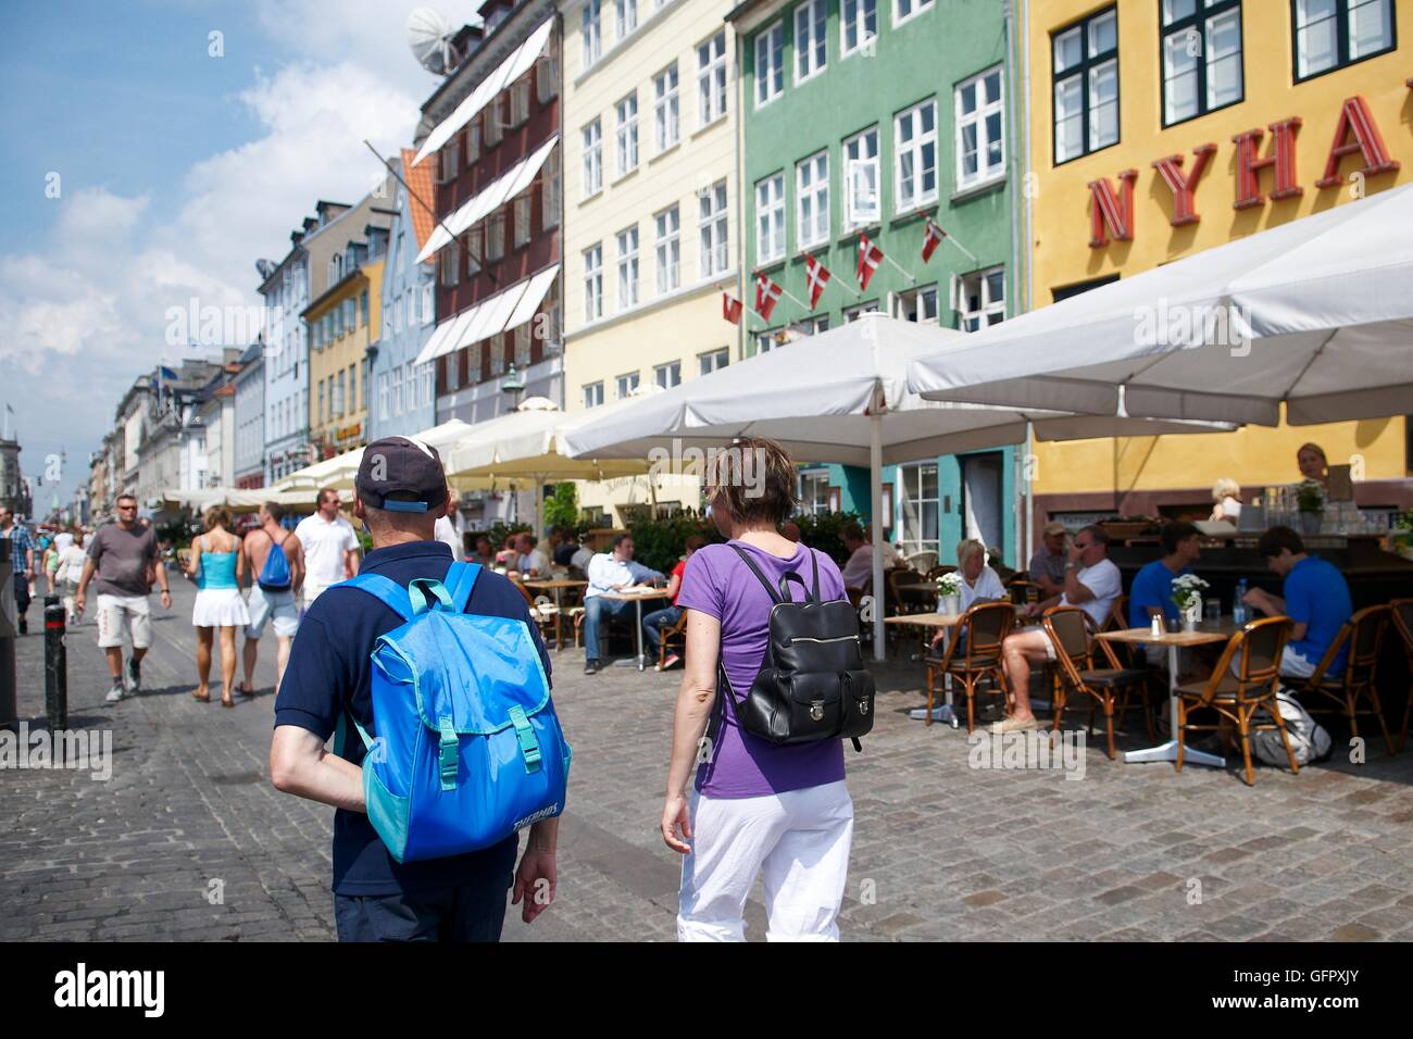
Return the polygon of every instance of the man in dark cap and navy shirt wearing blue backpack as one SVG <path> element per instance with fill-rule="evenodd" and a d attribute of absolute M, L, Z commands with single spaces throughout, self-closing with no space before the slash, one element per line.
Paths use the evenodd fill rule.
<path fill-rule="evenodd" d="M 372 444 L 363 452 L 353 498 L 353 516 L 373 537 L 360 573 L 404 587 L 418 577 L 444 578 L 452 554 L 434 530 L 447 506 L 447 476 L 435 448 L 411 437 Z M 466 612 L 523 621 L 550 674 L 550 657 L 530 623 L 526 599 L 504 577 L 482 570 Z M 341 941 L 496 941 L 512 884 L 512 902 L 524 900 L 526 923 L 554 900 L 558 818 L 531 826 L 519 869 L 516 834 L 483 851 L 400 864 L 366 814 L 363 742 L 343 739 L 342 751 L 325 749 L 349 714 L 377 735 L 369 654 L 379 636 L 401 625 L 397 612 L 356 588 L 333 585 L 315 599 L 295 635 L 276 698 L 270 779 L 284 793 L 338 809 L 333 912 Z"/>

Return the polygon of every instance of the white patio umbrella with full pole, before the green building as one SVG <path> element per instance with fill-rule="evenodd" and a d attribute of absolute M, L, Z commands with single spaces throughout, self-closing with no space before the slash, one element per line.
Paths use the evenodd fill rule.
<path fill-rule="evenodd" d="M 564 441 L 577 457 L 651 462 L 681 458 L 687 448 L 719 447 L 736 437 L 756 435 L 774 440 L 798 461 L 868 465 L 873 544 L 879 546 L 883 465 L 1020 444 L 1027 423 L 1046 440 L 1195 431 L 1193 424 L 1147 423 L 1113 414 L 940 404 L 907 389 L 911 356 L 959 349 L 969 342 L 971 336 L 962 332 L 866 314 L 588 420 L 565 430 Z M 882 595 L 880 551 L 873 553 L 873 589 L 875 597 Z M 875 653 L 882 660 L 882 609 L 875 611 L 873 623 Z"/>

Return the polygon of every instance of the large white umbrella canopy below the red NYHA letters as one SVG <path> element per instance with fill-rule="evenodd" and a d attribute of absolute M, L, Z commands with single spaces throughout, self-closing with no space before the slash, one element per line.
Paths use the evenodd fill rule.
<path fill-rule="evenodd" d="M 1208 249 L 909 366 L 928 399 L 1296 425 L 1413 397 L 1413 185 Z"/>

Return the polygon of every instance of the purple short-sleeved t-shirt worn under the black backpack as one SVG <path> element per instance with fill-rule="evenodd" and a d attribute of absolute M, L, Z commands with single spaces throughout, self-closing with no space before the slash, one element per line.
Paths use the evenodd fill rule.
<path fill-rule="evenodd" d="M 800 544 L 791 558 L 783 560 L 745 541 L 739 544 L 760 571 L 779 587 L 780 575 L 796 571 L 811 582 L 810 556 L 820 560 L 820 598 L 842 599 L 844 578 L 822 551 Z M 699 609 L 721 621 L 721 653 L 736 700 L 743 700 L 756 680 L 770 642 L 770 606 L 774 605 L 760 580 L 750 573 L 731 544 L 708 544 L 687 560 L 677 605 Z M 801 589 L 787 582 L 794 599 Z M 779 746 L 736 725 L 728 708 L 716 739 L 714 761 L 697 769 L 697 789 L 709 797 L 764 797 L 803 790 L 808 786 L 836 783 L 844 779 L 844 744 L 820 739 L 811 744 Z"/>

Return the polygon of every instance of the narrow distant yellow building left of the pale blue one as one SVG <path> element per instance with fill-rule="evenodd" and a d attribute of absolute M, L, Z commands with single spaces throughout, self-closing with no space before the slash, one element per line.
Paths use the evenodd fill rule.
<path fill-rule="evenodd" d="M 380 328 L 387 228 L 369 226 L 331 260 L 329 288 L 304 311 L 309 329 L 309 440 L 319 458 L 367 444 L 372 329 Z"/>

